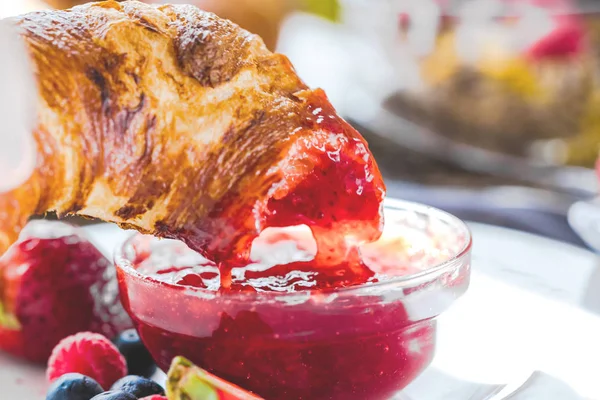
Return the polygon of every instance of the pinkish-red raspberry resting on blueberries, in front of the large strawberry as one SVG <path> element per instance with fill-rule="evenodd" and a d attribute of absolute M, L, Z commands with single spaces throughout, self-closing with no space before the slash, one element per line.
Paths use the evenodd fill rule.
<path fill-rule="evenodd" d="M 127 374 L 127 364 L 106 337 L 81 332 L 61 340 L 48 360 L 46 374 L 50 382 L 70 372 L 89 376 L 103 388 L 109 388 Z"/>

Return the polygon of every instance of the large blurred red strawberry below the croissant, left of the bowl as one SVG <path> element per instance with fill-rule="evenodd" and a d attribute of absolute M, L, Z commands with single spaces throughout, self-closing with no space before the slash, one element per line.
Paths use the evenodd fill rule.
<path fill-rule="evenodd" d="M 0 349 L 42 363 L 66 336 L 130 327 L 114 275 L 78 228 L 30 223 L 0 258 Z"/>

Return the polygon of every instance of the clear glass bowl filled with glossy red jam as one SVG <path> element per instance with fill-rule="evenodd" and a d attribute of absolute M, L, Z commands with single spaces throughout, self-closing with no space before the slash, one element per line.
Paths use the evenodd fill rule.
<path fill-rule="evenodd" d="M 136 235 L 116 257 L 122 301 L 163 369 L 182 355 L 266 399 L 388 399 L 431 362 L 435 318 L 469 284 L 471 238 L 413 203 L 388 202 L 385 218 L 360 249 L 374 275 L 338 288 L 290 263 L 316 251 L 301 228 L 265 232 L 227 291 L 184 244 Z"/>

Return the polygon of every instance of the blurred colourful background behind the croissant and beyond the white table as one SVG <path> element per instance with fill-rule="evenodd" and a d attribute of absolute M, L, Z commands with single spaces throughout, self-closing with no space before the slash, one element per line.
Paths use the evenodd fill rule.
<path fill-rule="evenodd" d="M 585 246 L 567 212 L 597 193 L 600 1 L 169 2 L 288 55 L 366 137 L 390 196 Z"/>

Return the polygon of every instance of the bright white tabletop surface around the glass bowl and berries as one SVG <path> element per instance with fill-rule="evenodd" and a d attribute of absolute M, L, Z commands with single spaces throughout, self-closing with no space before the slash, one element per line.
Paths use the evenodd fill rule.
<path fill-rule="evenodd" d="M 471 287 L 440 317 L 436 358 L 407 397 L 484 400 L 481 384 L 540 371 L 536 391 L 510 398 L 600 399 L 599 258 L 526 233 L 471 228 Z M 106 252 L 127 234 L 109 225 L 88 231 Z M 1 399 L 43 399 L 44 369 L 0 354 L 0 388 Z"/>

